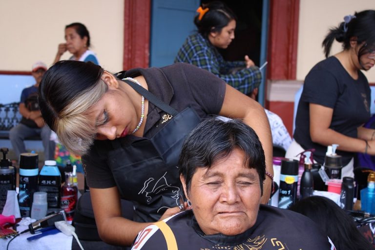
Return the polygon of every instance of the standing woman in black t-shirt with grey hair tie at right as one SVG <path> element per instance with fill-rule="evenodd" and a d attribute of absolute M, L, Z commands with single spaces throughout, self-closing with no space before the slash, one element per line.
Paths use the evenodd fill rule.
<path fill-rule="evenodd" d="M 343 50 L 329 57 L 334 40 Z M 338 144 L 341 176 L 354 177 L 354 153 L 375 155 L 375 130 L 362 126 L 370 118 L 371 91 L 362 70 L 375 64 L 375 10 L 345 16 L 322 45 L 327 59 L 305 78 L 286 157 L 315 148 L 314 160 L 323 164 L 327 146 Z"/>

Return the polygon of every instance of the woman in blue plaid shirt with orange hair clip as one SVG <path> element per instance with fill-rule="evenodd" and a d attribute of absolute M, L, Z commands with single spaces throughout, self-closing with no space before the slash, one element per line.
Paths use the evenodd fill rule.
<path fill-rule="evenodd" d="M 187 62 L 206 69 L 255 99 L 262 80 L 259 68 L 248 56 L 244 61 L 224 61 L 217 50 L 226 49 L 234 39 L 234 13 L 220 1 L 209 2 L 204 8 L 199 7 L 197 12 L 194 23 L 198 32 L 187 37 L 174 62 Z"/>

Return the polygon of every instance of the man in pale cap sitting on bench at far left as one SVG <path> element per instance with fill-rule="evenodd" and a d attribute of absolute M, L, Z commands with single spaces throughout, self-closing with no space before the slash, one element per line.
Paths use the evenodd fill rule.
<path fill-rule="evenodd" d="M 43 62 L 34 63 L 31 74 L 36 83 L 22 90 L 20 102 L 22 119 L 9 131 L 9 139 L 17 157 L 21 153 L 27 152 L 23 142 L 25 138 L 39 135 L 44 147 L 44 160 L 53 160 L 54 158 L 55 142 L 49 139 L 51 129 L 44 124 L 38 104 L 38 87 L 46 70 L 47 66 Z"/>

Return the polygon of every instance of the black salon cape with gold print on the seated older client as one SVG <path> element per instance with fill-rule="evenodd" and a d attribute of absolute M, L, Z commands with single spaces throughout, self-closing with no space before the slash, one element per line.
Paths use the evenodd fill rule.
<path fill-rule="evenodd" d="M 260 205 L 254 226 L 233 236 L 221 233 L 205 235 L 192 210 L 181 212 L 164 221 L 172 230 L 179 250 L 334 249 L 328 236 L 308 217 L 267 205 Z M 132 249 L 167 250 L 166 237 L 156 225 L 148 226 L 138 234 Z"/>

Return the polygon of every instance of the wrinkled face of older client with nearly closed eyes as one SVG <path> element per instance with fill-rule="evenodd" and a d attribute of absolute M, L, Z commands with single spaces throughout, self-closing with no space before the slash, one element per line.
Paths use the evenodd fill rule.
<path fill-rule="evenodd" d="M 255 224 L 261 197 L 259 175 L 245 166 L 244 157 L 243 151 L 234 149 L 211 168 L 198 167 L 194 173 L 187 197 L 204 233 L 235 235 Z"/>

